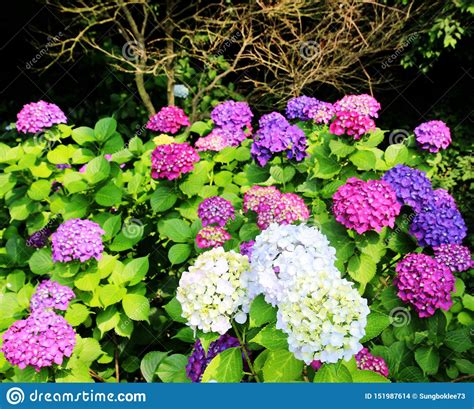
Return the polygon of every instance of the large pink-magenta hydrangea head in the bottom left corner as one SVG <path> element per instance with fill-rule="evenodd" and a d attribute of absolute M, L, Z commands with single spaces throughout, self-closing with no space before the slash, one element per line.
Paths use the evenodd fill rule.
<path fill-rule="evenodd" d="M 1 351 L 10 364 L 40 371 L 53 364 L 61 365 L 75 345 L 76 333 L 63 317 L 52 311 L 36 311 L 8 328 Z"/>

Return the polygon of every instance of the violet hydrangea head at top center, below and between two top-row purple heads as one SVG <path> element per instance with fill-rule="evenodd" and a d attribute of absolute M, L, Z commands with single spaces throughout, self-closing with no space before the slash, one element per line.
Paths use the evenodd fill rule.
<path fill-rule="evenodd" d="M 307 156 L 307 147 L 304 132 L 296 125 L 290 125 L 283 115 L 272 112 L 260 118 L 251 154 L 260 166 L 265 166 L 275 153 L 280 152 L 286 152 L 288 159 L 299 162 Z"/>

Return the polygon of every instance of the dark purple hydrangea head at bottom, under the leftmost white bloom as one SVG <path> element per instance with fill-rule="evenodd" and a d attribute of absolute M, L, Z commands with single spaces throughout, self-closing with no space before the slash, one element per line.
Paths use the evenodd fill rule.
<path fill-rule="evenodd" d="M 186 365 L 187 377 L 191 379 L 192 382 L 200 382 L 204 371 L 215 356 L 226 349 L 236 348 L 239 346 L 240 342 L 237 338 L 224 334 L 216 341 L 211 342 L 206 354 L 201 341 L 198 339 L 194 344 L 193 352 L 189 356 L 188 364 Z"/>

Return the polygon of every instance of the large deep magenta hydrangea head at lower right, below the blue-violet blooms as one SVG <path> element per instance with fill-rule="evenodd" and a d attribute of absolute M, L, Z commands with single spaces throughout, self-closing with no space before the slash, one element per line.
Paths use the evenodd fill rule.
<path fill-rule="evenodd" d="M 431 317 L 438 308 L 452 305 L 454 276 L 450 269 L 426 254 L 408 254 L 398 262 L 393 283 L 398 296 L 418 312 L 420 318 Z"/>

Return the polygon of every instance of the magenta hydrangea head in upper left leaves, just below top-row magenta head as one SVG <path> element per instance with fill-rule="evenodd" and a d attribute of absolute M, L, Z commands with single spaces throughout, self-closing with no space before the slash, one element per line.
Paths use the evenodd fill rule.
<path fill-rule="evenodd" d="M 188 143 L 158 145 L 151 154 L 151 177 L 173 180 L 194 169 L 199 154 Z"/>

